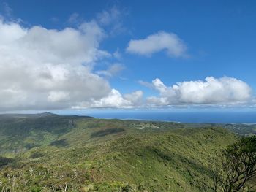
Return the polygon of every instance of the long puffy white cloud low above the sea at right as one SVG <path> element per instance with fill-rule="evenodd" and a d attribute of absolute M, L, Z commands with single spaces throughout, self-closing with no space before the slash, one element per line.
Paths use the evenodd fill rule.
<path fill-rule="evenodd" d="M 206 77 L 204 81 L 184 81 L 167 87 L 155 79 L 151 85 L 159 91 L 159 97 L 148 97 L 148 104 L 239 104 L 251 97 L 251 88 L 246 82 L 232 77 Z"/>

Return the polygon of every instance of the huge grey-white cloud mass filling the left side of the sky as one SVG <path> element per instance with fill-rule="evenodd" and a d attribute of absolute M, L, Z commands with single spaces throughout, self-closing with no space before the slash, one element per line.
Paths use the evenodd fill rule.
<path fill-rule="evenodd" d="M 108 96 L 108 81 L 92 72 L 110 55 L 99 49 L 104 36 L 93 21 L 49 30 L 0 20 L 1 110 L 72 107 Z"/>

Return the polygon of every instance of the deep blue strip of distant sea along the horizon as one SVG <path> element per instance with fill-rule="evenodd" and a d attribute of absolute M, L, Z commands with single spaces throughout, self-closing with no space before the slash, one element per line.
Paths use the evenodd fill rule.
<path fill-rule="evenodd" d="M 89 112 L 94 118 L 164 120 L 181 123 L 256 123 L 256 112 Z"/>

